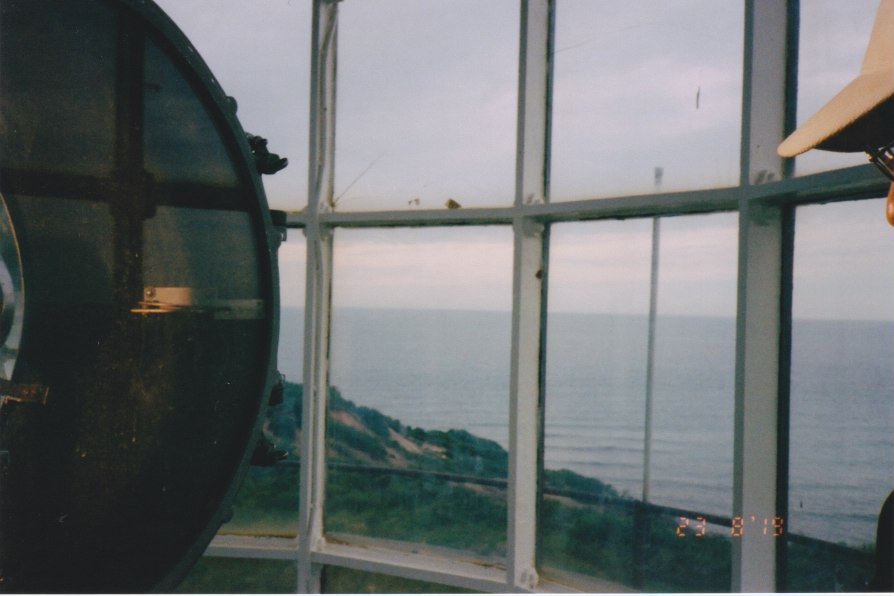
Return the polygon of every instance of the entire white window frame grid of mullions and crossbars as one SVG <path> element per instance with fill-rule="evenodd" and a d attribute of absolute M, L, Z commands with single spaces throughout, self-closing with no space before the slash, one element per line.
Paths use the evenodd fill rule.
<path fill-rule="evenodd" d="M 797 0 L 746 0 L 740 183 L 730 188 L 573 202 L 549 201 L 552 47 L 556 0 L 520 0 L 517 162 L 514 204 L 505 208 L 334 212 L 335 88 L 341 0 L 314 0 L 308 205 L 287 225 L 307 240 L 304 410 L 296 540 L 215 538 L 207 554 L 293 560 L 298 592 L 317 592 L 325 565 L 494 592 L 556 588 L 535 564 L 542 462 L 542 336 L 549 226 L 556 222 L 737 211 L 738 309 L 733 514 L 773 517 L 786 508 L 788 345 L 794 207 L 884 194 L 870 166 L 792 177 L 775 148 L 794 122 Z M 368 0 L 366 0 L 368 1 Z M 760 180 L 761 183 L 758 183 Z M 325 412 L 329 373 L 332 235 L 336 228 L 502 224 L 514 236 L 505 567 L 370 544 L 328 543 Z M 282 334 L 294 332 L 287 328 Z M 771 429 L 770 440 L 767 429 Z M 781 473 L 780 473 L 781 471 Z M 415 545 L 418 547 L 418 545 Z M 732 591 L 777 589 L 777 541 L 746 533 L 733 546 Z M 567 587 L 560 587 L 567 590 Z"/>

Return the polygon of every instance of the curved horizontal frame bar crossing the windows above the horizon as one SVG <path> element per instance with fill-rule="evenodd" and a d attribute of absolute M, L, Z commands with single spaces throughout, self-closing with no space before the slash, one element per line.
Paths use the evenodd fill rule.
<path fill-rule="evenodd" d="M 736 211 L 743 200 L 807 205 L 868 199 L 884 196 L 888 184 L 866 164 L 760 185 L 507 207 L 329 212 L 320 213 L 317 220 L 332 228 L 404 228 L 512 225 L 519 215 L 542 223 L 670 217 Z M 305 213 L 289 212 L 285 225 L 299 229 L 307 226 L 309 219 Z"/>

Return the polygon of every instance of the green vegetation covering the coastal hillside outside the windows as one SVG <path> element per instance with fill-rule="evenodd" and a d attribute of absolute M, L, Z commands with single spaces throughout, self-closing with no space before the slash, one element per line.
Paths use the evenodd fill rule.
<path fill-rule="evenodd" d="M 302 397 L 300 385 L 287 384 L 283 404 L 272 409 L 265 432 L 289 451 L 289 460 L 251 469 L 225 532 L 295 535 Z M 463 430 L 405 426 L 377 410 L 357 406 L 334 388 L 327 437 L 327 532 L 450 547 L 484 558 L 505 554 L 508 458 L 499 444 Z M 569 470 L 546 470 L 544 493 L 538 540 L 544 575 L 554 569 L 612 582 L 606 589 L 729 590 L 732 543 L 727 529 L 712 531 L 709 526 L 703 536 L 681 538 L 675 531 L 676 518 L 647 513 L 612 486 Z M 219 568 L 221 581 L 240 586 L 235 591 L 280 591 L 278 582 L 292 590 L 294 566 L 285 565 L 288 573 L 280 567 L 246 568 L 246 576 L 261 582 L 252 589 L 240 583 L 247 579 L 230 579 L 237 564 L 205 559 L 181 589 L 229 591 L 221 587 L 229 583 L 214 579 L 212 570 Z M 830 550 L 821 544 L 788 546 L 789 590 L 860 591 L 871 573 L 868 551 Z M 442 588 L 338 568 L 328 568 L 324 580 L 327 591 L 336 592 Z"/>

